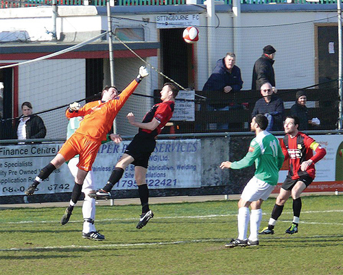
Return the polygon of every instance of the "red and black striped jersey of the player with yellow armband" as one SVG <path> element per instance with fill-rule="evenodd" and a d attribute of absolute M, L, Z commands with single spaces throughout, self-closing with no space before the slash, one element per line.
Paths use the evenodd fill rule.
<path fill-rule="evenodd" d="M 319 143 L 303 132 L 298 132 L 294 138 L 290 134 L 286 134 L 281 140 L 281 149 L 285 155 L 285 160 L 289 158 L 288 176 L 292 180 L 296 180 L 304 175 L 309 175 L 311 178 L 314 178 L 316 176 L 314 164 L 327 154 L 327 151 Z M 315 155 L 314 151 L 316 152 Z M 301 163 L 309 159 L 313 163 L 306 171 L 301 171 Z"/>

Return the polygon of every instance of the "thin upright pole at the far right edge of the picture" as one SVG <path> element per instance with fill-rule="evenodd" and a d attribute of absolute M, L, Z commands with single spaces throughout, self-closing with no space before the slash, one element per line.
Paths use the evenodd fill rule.
<path fill-rule="evenodd" d="M 343 92 L 342 92 L 342 10 L 341 0 L 337 0 L 338 12 L 338 95 L 340 95 L 338 129 L 343 126 Z"/>

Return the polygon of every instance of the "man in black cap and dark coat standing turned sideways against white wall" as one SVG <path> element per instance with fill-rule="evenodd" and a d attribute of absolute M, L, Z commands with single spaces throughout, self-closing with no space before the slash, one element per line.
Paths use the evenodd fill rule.
<path fill-rule="evenodd" d="M 261 86 L 266 82 L 272 84 L 273 91 L 275 91 L 275 74 L 274 74 L 274 56 L 276 49 L 271 45 L 263 48 L 263 55 L 256 60 L 254 69 L 252 70 L 252 84 L 251 89 L 259 91 Z"/>

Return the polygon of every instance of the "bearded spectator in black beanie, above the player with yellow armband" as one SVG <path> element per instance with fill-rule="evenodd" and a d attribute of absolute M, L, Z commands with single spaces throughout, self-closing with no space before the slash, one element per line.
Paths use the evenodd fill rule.
<path fill-rule="evenodd" d="M 291 108 L 291 115 L 298 117 L 300 121 L 299 130 L 308 130 L 309 125 L 319 125 L 320 120 L 317 117 L 309 120 L 306 107 L 307 95 L 305 91 L 296 92 L 296 103 Z"/>

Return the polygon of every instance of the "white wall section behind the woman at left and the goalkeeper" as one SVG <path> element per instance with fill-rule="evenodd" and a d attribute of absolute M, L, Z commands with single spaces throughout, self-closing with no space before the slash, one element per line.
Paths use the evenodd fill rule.
<path fill-rule="evenodd" d="M 20 61 L 20 60 L 19 60 Z M 19 67 L 19 113 L 24 101 L 40 112 L 67 105 L 86 95 L 86 62 L 84 59 L 43 60 Z M 47 139 L 63 139 L 68 120 L 67 107 L 39 115 L 47 127 Z"/>

